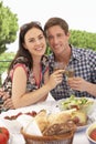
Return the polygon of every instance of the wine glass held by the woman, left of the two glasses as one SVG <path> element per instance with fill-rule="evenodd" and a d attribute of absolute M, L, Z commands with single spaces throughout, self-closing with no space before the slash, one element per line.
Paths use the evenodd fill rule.
<path fill-rule="evenodd" d="M 57 71 L 57 70 L 64 70 L 64 63 L 63 62 L 54 62 L 54 71 Z M 61 85 L 57 85 L 56 86 L 56 90 L 58 91 L 62 91 L 62 88 Z"/>

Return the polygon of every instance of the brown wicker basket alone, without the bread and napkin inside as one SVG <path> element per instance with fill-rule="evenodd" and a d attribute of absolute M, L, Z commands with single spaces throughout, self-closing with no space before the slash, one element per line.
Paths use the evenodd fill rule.
<path fill-rule="evenodd" d="M 21 128 L 21 134 L 24 136 L 26 144 L 72 144 L 75 131 L 68 132 L 64 135 L 54 136 L 35 136 L 26 134 Z"/>

